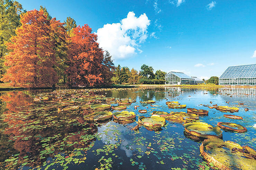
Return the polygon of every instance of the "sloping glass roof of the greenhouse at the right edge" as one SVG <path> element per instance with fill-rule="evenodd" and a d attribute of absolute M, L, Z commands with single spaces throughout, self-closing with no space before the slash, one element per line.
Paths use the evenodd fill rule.
<path fill-rule="evenodd" d="M 220 79 L 226 78 L 248 78 L 256 77 L 256 64 L 249 64 L 243 66 L 230 66 L 220 76 Z"/>

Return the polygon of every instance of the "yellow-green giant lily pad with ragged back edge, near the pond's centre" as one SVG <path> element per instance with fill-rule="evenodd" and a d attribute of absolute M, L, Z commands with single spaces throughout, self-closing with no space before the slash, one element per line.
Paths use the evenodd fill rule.
<path fill-rule="evenodd" d="M 138 119 L 138 122 L 147 127 L 157 128 L 165 125 L 165 118 L 159 115 L 153 114 L 151 117 L 140 116 Z"/>

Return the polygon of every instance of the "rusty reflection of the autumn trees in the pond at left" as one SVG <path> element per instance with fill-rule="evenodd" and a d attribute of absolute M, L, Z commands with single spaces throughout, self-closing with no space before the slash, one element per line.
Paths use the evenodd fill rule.
<path fill-rule="evenodd" d="M 19 162 L 28 156 L 33 162 L 27 166 L 35 167 L 55 153 L 85 148 L 96 140 L 94 136 L 86 137 L 97 133 L 97 126 L 82 124 L 83 117 L 76 112 L 58 113 L 57 108 L 47 109 L 47 103 L 35 104 L 33 98 L 21 91 L 8 92 L 0 98 L 1 104 L 6 103 L 8 109 L 2 113 L 6 125 L 1 123 L 0 126 L 4 129 L 0 133 L 0 167 L 4 160 L 17 153 Z M 47 152 L 42 154 L 44 150 Z"/>

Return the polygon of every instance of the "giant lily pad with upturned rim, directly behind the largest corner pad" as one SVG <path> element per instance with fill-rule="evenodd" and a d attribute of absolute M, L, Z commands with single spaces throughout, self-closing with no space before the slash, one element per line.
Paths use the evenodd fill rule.
<path fill-rule="evenodd" d="M 194 136 L 202 138 L 222 138 L 222 130 L 216 126 L 204 122 L 188 122 L 184 123 L 185 131 Z"/>

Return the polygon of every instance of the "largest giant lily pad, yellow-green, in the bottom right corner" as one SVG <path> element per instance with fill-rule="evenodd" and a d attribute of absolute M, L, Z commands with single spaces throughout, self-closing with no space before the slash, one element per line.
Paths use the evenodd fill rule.
<path fill-rule="evenodd" d="M 200 146 L 200 153 L 209 163 L 224 170 L 255 170 L 256 152 L 254 149 L 231 141 L 205 139 Z"/>

